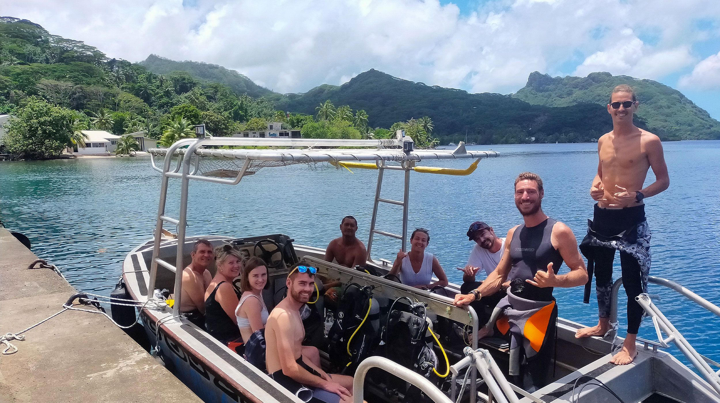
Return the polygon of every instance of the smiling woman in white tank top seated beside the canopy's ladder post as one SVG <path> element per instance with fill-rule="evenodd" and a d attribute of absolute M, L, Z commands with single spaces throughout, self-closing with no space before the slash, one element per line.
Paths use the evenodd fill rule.
<path fill-rule="evenodd" d="M 418 289 L 432 289 L 434 286 L 447 286 L 448 278 L 438 259 L 425 249 L 430 243 L 430 234 L 424 228 L 418 228 L 410 235 L 410 252 L 400 250 L 389 274 L 399 276 L 402 284 Z M 432 276 L 438 281 L 431 284 Z"/>

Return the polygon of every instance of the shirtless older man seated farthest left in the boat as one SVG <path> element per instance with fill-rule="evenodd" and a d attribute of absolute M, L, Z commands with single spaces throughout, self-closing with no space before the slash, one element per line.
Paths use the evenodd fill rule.
<path fill-rule="evenodd" d="M 190 253 L 192 262 L 182 271 L 180 312 L 190 322 L 204 329 L 205 290 L 210 286 L 212 275 L 207 269 L 215 261 L 215 252 L 209 240 L 197 240 Z"/>

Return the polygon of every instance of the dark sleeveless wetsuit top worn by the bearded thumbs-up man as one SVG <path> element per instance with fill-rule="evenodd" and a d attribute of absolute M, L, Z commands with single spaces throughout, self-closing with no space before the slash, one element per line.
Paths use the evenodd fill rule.
<path fill-rule="evenodd" d="M 526 227 L 524 224 L 513 232 L 513 239 L 510 241 L 510 259 L 512 268 L 508 274 L 510 284 L 516 279 L 521 279 L 521 284 L 526 287 L 528 299 L 536 301 L 551 301 L 552 287 L 539 288 L 529 284 L 525 280 L 532 280 L 539 270 L 547 271 L 548 263 L 552 262 L 552 269 L 557 273 L 562 265 L 562 256 L 552 246 L 550 235 L 552 227 L 557 221 L 548 217 L 535 227 Z M 514 291 L 514 289 L 513 289 Z"/>

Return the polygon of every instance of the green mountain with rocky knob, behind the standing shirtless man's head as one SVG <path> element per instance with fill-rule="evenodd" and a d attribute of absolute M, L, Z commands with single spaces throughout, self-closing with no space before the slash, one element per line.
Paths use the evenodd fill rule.
<path fill-rule="evenodd" d="M 720 139 L 720 122 L 710 117 L 680 91 L 657 81 L 639 80 L 611 73 L 590 73 L 587 77 L 550 77 L 537 71 L 513 98 L 546 107 L 567 107 L 590 102 L 605 107 L 610 91 L 618 84 L 636 89 L 639 109 L 636 117 L 661 137 L 683 140 Z"/>

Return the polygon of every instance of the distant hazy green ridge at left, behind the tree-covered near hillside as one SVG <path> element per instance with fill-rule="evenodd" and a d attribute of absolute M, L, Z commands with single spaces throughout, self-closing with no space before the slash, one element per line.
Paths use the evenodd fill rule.
<path fill-rule="evenodd" d="M 253 81 L 234 70 L 229 70 L 221 65 L 208 64 L 202 62 L 182 61 L 178 62 L 167 58 L 161 58 L 158 55 L 149 55 L 147 59 L 139 63 L 148 71 L 156 74 L 169 74 L 174 71 L 185 71 L 194 78 L 206 83 L 222 83 L 229 86 L 230 89 L 238 94 L 248 94 L 253 98 L 265 96 L 268 99 L 278 99 L 282 95 L 270 91 L 264 87 L 258 86 Z"/>

